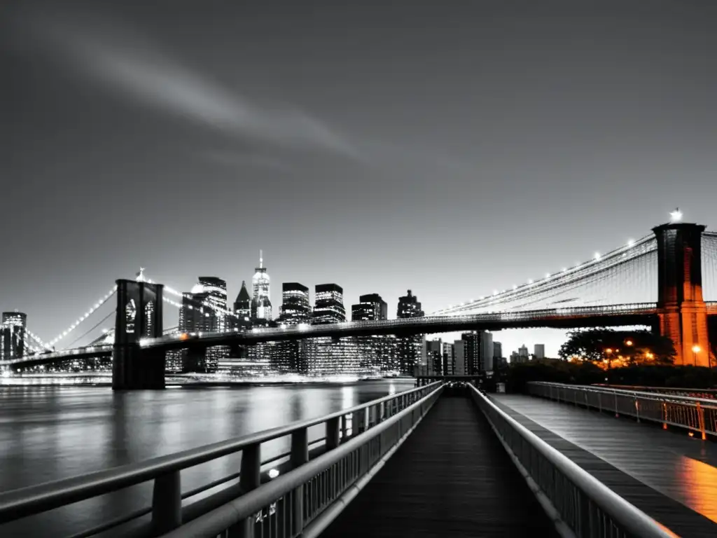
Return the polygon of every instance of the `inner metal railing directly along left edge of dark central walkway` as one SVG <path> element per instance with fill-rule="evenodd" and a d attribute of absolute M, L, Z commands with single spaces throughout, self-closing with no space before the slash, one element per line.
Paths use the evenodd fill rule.
<path fill-rule="evenodd" d="M 383 466 L 431 409 L 442 384 L 421 400 L 163 538 L 318 536 Z"/>

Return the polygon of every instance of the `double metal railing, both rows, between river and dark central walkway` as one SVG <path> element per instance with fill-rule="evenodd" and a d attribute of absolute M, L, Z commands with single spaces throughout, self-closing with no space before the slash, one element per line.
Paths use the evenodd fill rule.
<path fill-rule="evenodd" d="M 357 481 L 397 448 L 441 391 L 442 383 L 437 382 L 241 438 L 6 491 L 0 494 L 0 535 L 2 524 L 153 481 L 152 506 L 73 534 L 73 538 L 90 537 L 128 522 L 138 523 L 138 518 L 148 514 L 151 520 L 133 529 L 133 537 L 156 537 L 173 529 L 177 530 L 171 536 L 216 537 L 230 529 L 223 535 L 252 536 L 256 532 L 262 537 L 295 537 L 305 533 L 306 527 L 333 501 L 355 489 Z M 326 436 L 309 443 L 308 429 L 317 425 L 325 426 Z M 291 439 L 290 452 L 262 462 L 262 444 L 286 437 Z M 310 445 L 321 441 L 323 447 L 310 450 Z M 241 453 L 238 473 L 181 491 L 181 471 L 236 453 Z M 262 483 L 262 466 L 282 459 L 285 464 L 279 476 L 270 481 L 265 478 Z M 191 504 L 182 502 L 237 478 L 239 483 L 234 486 Z M 222 514 L 219 519 L 217 512 Z M 197 528 L 212 531 L 195 534 Z"/>

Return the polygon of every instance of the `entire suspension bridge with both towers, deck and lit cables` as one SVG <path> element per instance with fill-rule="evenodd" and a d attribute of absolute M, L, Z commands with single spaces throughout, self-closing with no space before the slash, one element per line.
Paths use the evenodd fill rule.
<path fill-rule="evenodd" d="M 330 336 L 378 334 L 440 334 L 467 330 L 597 326 L 647 326 L 675 342 L 675 364 L 717 364 L 717 232 L 702 225 L 673 222 L 660 225 L 639 240 L 571 268 L 543 278 L 448 306 L 429 316 L 386 321 L 346 321 L 338 324 L 234 328 L 184 334 L 175 327 L 163 329 L 163 306 L 183 308 L 168 296 L 183 294 L 153 282 L 140 273 L 136 280 L 118 280 L 65 331 L 43 341 L 27 331 L 27 352 L 10 357 L 3 367 L 53 364 L 68 359 L 113 358 L 116 388 L 163 387 L 166 352 L 176 349 L 204 351 L 212 346 L 236 349 L 265 341 L 286 341 Z M 80 326 L 116 300 L 116 308 L 91 327 L 114 318 L 114 327 L 82 347 L 55 350 Z M 238 314 L 210 301 L 186 306 L 200 315 L 237 319 Z M 222 326 L 232 326 L 230 323 Z M 712 334 L 712 339 L 710 339 Z M 75 339 L 77 341 L 77 339 Z"/>

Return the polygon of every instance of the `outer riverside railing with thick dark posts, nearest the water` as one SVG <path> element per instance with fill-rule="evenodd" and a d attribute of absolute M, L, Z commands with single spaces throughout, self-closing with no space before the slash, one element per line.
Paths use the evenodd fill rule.
<path fill-rule="evenodd" d="M 153 481 L 151 508 L 140 509 L 130 515 L 139 518 L 151 514 L 151 531 L 146 535 L 156 536 L 179 527 L 183 520 L 186 519 L 187 512 L 191 511 L 189 510 L 191 505 L 183 506 L 182 500 L 189 497 L 189 494 L 203 493 L 237 478 L 239 479 L 239 489 L 249 491 L 260 486 L 261 468 L 268 463 L 288 457 L 290 467 L 305 464 L 308 461 L 310 444 L 316 443 L 316 441 L 313 443 L 308 441 L 309 428 L 317 425 L 325 426 L 326 436 L 323 438 L 323 446 L 326 453 L 331 453 L 339 446 L 343 446 L 343 443 L 346 443 L 349 437 L 353 438 L 364 432 L 371 433 L 377 425 L 381 425 L 389 417 L 413 408 L 417 402 L 424 402 L 429 395 L 440 390 L 441 386 L 440 382 L 436 382 L 424 387 L 417 387 L 405 392 L 381 397 L 346 410 L 333 412 L 330 415 L 303 420 L 280 428 L 272 428 L 260 433 L 245 435 L 241 438 L 212 443 L 199 448 L 184 450 L 180 453 L 160 456 L 141 463 L 111 468 L 106 471 L 97 471 L 74 478 L 5 491 L 0 494 L 0 526 L 16 519 L 41 514 L 62 506 L 68 506 L 130 486 Z M 261 461 L 262 444 L 288 436 L 291 438 L 290 453 L 280 454 L 264 462 Z M 374 438 L 373 434 L 369 435 L 369 437 Z M 239 473 L 233 473 L 220 481 L 214 481 L 182 494 L 181 471 L 236 453 L 241 454 Z M 199 503 L 204 503 L 207 509 L 215 508 L 211 502 L 207 503 L 206 499 L 198 501 L 196 504 Z M 196 514 L 196 510 L 194 510 L 192 516 L 196 517 L 197 515 L 199 514 Z M 115 520 L 113 527 L 125 524 L 130 519 L 133 518 L 128 518 L 128 516 L 120 517 Z M 108 527 L 108 523 L 74 536 L 87 537 L 92 535 L 88 534 L 88 532 L 103 532 L 112 528 Z M 0 527 L 0 534 L 2 534 L 2 527 Z"/>

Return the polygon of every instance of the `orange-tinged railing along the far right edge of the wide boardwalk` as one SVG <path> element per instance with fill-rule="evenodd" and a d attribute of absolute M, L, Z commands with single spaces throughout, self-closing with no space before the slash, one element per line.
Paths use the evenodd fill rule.
<path fill-rule="evenodd" d="M 529 382 L 528 392 L 557 402 L 635 417 L 637 422 L 649 420 L 662 424 L 665 429 L 668 426 L 686 428 L 699 433 L 703 439 L 717 435 L 716 400 L 549 382 Z"/>

